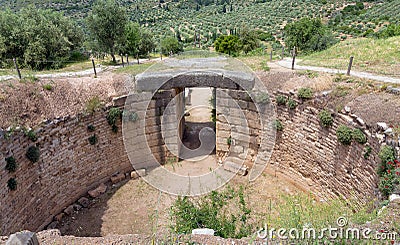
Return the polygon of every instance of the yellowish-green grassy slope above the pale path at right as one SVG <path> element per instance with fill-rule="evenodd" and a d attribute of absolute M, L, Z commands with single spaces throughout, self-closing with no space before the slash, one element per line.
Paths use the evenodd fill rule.
<path fill-rule="evenodd" d="M 388 39 L 359 38 L 301 57 L 300 65 L 347 69 L 354 56 L 353 70 L 400 77 L 400 37 Z"/>

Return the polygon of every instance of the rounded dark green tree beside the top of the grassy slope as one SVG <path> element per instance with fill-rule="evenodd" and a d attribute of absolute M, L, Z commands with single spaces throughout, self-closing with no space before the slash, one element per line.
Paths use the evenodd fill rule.
<path fill-rule="evenodd" d="M 302 18 L 284 28 L 286 46 L 302 51 L 321 51 L 337 42 L 320 19 Z"/>

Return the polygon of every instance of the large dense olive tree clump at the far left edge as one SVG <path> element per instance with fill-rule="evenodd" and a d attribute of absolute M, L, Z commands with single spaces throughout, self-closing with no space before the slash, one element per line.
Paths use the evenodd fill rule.
<path fill-rule="evenodd" d="M 62 13 L 33 5 L 0 11 L 0 60 L 17 58 L 20 67 L 34 70 L 59 68 L 82 41 L 82 30 Z"/>

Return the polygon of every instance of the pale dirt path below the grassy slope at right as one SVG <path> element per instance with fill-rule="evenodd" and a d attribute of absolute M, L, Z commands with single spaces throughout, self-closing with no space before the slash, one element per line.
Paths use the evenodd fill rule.
<path fill-rule="evenodd" d="M 301 65 L 298 65 L 299 61 L 301 61 L 301 60 L 296 59 L 296 62 L 295 62 L 296 70 L 311 70 L 311 71 L 326 72 L 326 73 L 333 73 L 333 74 L 346 74 L 347 73 L 347 71 L 345 71 L 345 70 L 330 69 L 330 68 L 316 67 L 316 66 L 301 66 Z M 292 68 L 292 59 L 291 58 L 285 58 L 276 63 L 285 68 L 289 68 L 289 69 Z M 350 75 L 355 76 L 355 77 L 360 77 L 360 78 L 376 80 L 376 81 L 380 81 L 380 82 L 400 84 L 399 78 L 380 76 L 380 75 L 367 73 L 367 72 L 352 71 L 350 73 Z"/>

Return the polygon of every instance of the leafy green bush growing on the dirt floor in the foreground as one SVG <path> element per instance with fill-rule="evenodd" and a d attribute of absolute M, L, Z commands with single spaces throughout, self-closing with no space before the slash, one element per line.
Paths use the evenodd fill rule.
<path fill-rule="evenodd" d="M 223 238 L 251 235 L 255 227 L 250 223 L 250 214 L 242 187 L 237 191 L 229 187 L 213 191 L 197 202 L 178 197 L 171 207 L 175 232 L 190 234 L 196 228 L 209 228 Z"/>

